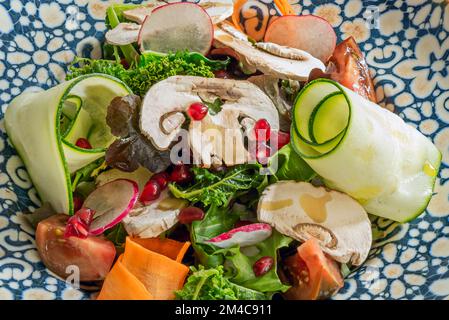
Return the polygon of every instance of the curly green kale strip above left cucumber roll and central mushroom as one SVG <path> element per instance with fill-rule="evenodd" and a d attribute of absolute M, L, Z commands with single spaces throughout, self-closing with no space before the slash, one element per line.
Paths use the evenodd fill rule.
<path fill-rule="evenodd" d="M 204 61 L 189 62 L 188 55 L 187 52 L 178 52 L 157 57 L 152 55 L 151 59 L 148 55 L 142 55 L 147 57 L 143 58 L 144 62 L 130 69 L 125 69 L 123 65 L 113 60 L 75 58 L 66 79 L 91 73 L 104 73 L 122 80 L 135 94 L 143 96 L 153 84 L 171 76 L 214 77 L 212 68 Z"/>

